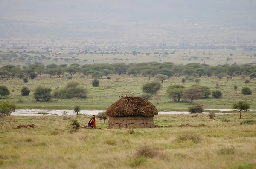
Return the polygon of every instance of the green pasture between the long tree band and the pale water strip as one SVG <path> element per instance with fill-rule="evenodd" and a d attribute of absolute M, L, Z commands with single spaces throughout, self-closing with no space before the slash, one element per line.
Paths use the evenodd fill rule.
<path fill-rule="evenodd" d="M 106 77 L 99 79 L 99 87 L 93 87 L 91 76 L 84 76 L 83 78 L 74 76 L 72 80 L 68 80 L 66 76 L 58 77 L 37 77 L 35 80 L 30 80 L 28 83 L 23 83 L 22 79 L 14 78 L 9 80 L 0 80 L 1 85 L 8 87 L 11 94 L 4 98 L 4 100 L 9 100 L 17 105 L 17 108 L 43 108 L 43 109 L 73 109 L 75 105 L 81 106 L 81 109 L 88 110 L 105 110 L 112 103 L 119 100 L 119 96 L 132 95 L 140 96 L 142 94 L 142 85 L 151 81 L 154 81 L 154 77 L 150 80 L 148 77 L 130 77 L 126 75 L 110 75 L 111 79 L 108 80 Z M 166 89 L 170 85 L 183 84 L 185 87 L 196 84 L 195 82 L 186 81 L 181 82 L 183 77 L 170 77 L 163 81 L 162 89 L 158 92 L 156 97 L 152 97 L 149 100 L 153 103 L 158 110 L 186 110 L 187 107 L 192 106 L 187 100 L 183 100 L 181 103 L 175 103 L 171 98 L 167 97 Z M 117 79 L 119 79 L 117 81 Z M 221 92 L 223 93 L 222 98 L 215 99 L 211 95 L 208 99 L 194 100 L 195 103 L 202 103 L 205 109 L 231 109 L 232 103 L 238 100 L 246 101 L 250 104 L 250 109 L 256 109 L 256 81 L 250 80 L 247 85 L 244 83 L 245 79 L 241 77 L 233 77 L 230 80 L 216 79 L 215 77 L 200 77 L 201 86 L 209 86 L 211 91 L 215 90 L 216 84 L 219 85 Z M 49 86 L 52 89 L 57 87 L 64 87 L 67 82 L 76 81 L 79 82 L 81 86 L 88 89 L 89 94 L 86 99 L 52 99 L 52 102 L 36 102 L 33 99 L 33 92 L 38 86 Z M 234 90 L 234 86 L 238 86 L 238 90 Z M 27 97 L 21 96 L 21 88 L 27 86 L 31 92 Z M 110 86 L 107 89 L 106 86 Z M 252 95 L 242 95 L 241 89 L 247 86 L 252 90 Z M 106 98 L 108 97 L 108 98 Z M 159 104 L 157 104 L 157 100 Z"/>

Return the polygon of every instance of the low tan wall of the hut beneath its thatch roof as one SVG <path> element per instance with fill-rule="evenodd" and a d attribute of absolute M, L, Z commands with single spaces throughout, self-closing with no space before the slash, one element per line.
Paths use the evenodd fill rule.
<path fill-rule="evenodd" d="M 146 116 L 125 116 L 109 117 L 108 128 L 151 128 L 154 127 L 154 117 Z"/>

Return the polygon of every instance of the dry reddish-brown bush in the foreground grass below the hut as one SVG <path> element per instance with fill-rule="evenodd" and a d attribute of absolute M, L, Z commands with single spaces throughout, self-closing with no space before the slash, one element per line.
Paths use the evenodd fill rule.
<path fill-rule="evenodd" d="M 153 158 L 155 156 L 157 156 L 160 152 L 159 148 L 156 147 L 152 147 L 149 145 L 144 145 L 144 146 L 140 146 L 139 148 L 137 148 L 137 152 L 136 152 L 136 156 L 140 157 L 140 156 L 144 156 L 147 158 Z"/>

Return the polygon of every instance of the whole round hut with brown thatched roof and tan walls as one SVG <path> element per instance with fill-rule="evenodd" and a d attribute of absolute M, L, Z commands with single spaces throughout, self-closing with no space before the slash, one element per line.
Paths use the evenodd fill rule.
<path fill-rule="evenodd" d="M 151 128 L 154 126 L 156 107 L 141 97 L 123 97 L 107 110 L 108 128 Z"/>

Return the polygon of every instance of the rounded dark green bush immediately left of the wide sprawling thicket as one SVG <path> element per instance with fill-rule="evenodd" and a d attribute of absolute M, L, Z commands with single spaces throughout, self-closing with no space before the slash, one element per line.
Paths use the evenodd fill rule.
<path fill-rule="evenodd" d="M 52 100 L 51 91 L 52 89 L 49 87 L 39 86 L 35 88 L 34 99 L 36 101 L 50 102 Z"/>

